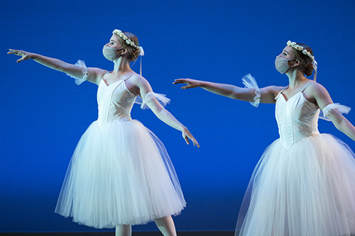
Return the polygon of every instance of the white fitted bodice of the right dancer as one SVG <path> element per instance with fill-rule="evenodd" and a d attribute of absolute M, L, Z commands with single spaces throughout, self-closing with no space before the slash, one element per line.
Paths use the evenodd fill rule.
<path fill-rule="evenodd" d="M 305 99 L 302 92 L 295 94 L 286 101 L 283 94 L 276 99 L 275 116 L 278 122 L 280 141 L 286 150 L 302 137 L 320 133 L 318 117 L 320 109 Z"/>

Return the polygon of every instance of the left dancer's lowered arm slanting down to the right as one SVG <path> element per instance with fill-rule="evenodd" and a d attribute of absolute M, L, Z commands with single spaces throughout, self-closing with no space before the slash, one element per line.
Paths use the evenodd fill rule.
<path fill-rule="evenodd" d="M 149 108 L 153 111 L 155 116 L 157 116 L 160 120 L 162 120 L 167 125 L 175 128 L 176 130 L 180 130 L 182 132 L 182 137 L 185 139 L 186 143 L 189 144 L 189 139 L 192 140 L 194 146 L 200 147 L 197 140 L 190 133 L 189 130 L 182 125 L 169 111 L 167 111 L 153 96 L 153 90 L 151 85 L 148 83 L 146 79 L 141 76 L 136 76 L 132 78 L 132 82 L 138 86 L 139 94 L 143 101 L 148 105 Z"/>

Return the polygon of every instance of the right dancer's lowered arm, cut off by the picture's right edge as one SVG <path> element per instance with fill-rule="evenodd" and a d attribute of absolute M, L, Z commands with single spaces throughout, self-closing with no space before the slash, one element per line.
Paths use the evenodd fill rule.
<path fill-rule="evenodd" d="M 329 105 L 332 106 L 333 101 L 327 89 L 321 84 L 313 83 L 310 85 L 310 93 L 314 96 L 318 106 L 322 109 L 323 113 L 326 114 L 327 118 L 332 120 L 335 127 L 355 141 L 354 125 L 339 112 L 338 108 L 336 108 L 337 106 L 329 108 Z"/>

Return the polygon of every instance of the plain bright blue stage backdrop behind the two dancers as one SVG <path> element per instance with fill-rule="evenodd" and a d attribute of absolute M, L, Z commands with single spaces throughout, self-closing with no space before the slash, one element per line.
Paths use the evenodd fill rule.
<path fill-rule="evenodd" d="M 84 130 L 97 118 L 97 86 L 6 55 L 9 48 L 65 62 L 84 60 L 111 70 L 102 46 L 115 28 L 137 35 L 146 55 L 143 76 L 172 100 L 167 107 L 200 142 L 135 106 L 132 117 L 153 130 L 170 153 L 187 208 L 178 230 L 234 230 L 253 167 L 278 138 L 274 105 L 181 90 L 190 77 L 241 86 L 251 73 L 259 86 L 288 84 L 274 60 L 288 40 L 306 43 L 319 64 L 317 81 L 334 102 L 355 107 L 355 1 L 1 0 L 0 231 L 91 231 L 53 213 L 67 164 Z M 138 72 L 139 63 L 133 66 Z M 346 116 L 355 122 L 355 112 Z M 321 120 L 355 150 L 354 141 Z M 154 224 L 134 230 L 155 230 Z"/>

